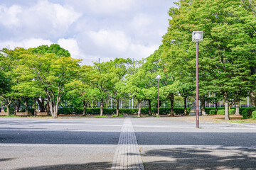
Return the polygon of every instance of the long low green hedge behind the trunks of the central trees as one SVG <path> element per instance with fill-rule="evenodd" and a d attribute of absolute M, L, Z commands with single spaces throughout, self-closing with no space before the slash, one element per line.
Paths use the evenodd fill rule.
<path fill-rule="evenodd" d="M 121 114 L 137 114 L 138 108 L 120 108 L 119 113 Z M 103 113 L 105 115 L 112 115 L 113 113 L 116 113 L 116 109 L 113 108 L 103 108 Z M 161 115 L 167 115 L 171 111 L 171 108 L 159 108 L 159 114 Z M 187 108 L 188 113 L 190 113 L 191 108 Z M 59 108 L 58 114 L 68 115 L 68 114 L 82 114 L 83 108 Z M 149 108 L 142 108 L 141 113 L 146 115 L 149 114 Z M 156 114 L 157 108 L 151 108 L 151 113 Z M 183 107 L 175 107 L 174 113 L 176 114 L 183 114 L 184 108 Z M 86 114 L 88 115 L 98 115 L 100 114 L 100 108 L 86 108 Z"/>

